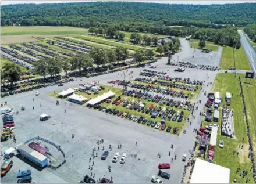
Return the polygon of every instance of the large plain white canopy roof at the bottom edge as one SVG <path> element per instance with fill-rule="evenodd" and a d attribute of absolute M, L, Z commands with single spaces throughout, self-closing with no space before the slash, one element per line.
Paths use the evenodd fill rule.
<path fill-rule="evenodd" d="M 197 158 L 190 183 L 229 183 L 230 169 Z"/>

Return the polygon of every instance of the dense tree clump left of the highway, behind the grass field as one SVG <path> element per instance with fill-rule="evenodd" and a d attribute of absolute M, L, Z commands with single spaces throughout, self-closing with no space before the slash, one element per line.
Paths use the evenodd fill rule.
<path fill-rule="evenodd" d="M 239 49 L 241 46 L 240 35 L 235 27 L 227 27 L 220 30 L 197 28 L 192 32 L 192 38 L 211 41 L 215 44 L 220 44 L 221 46 L 232 46 L 236 49 Z"/>

